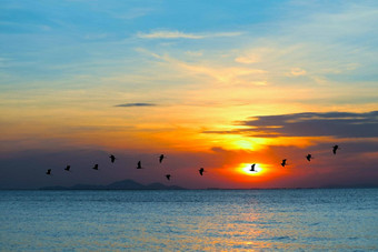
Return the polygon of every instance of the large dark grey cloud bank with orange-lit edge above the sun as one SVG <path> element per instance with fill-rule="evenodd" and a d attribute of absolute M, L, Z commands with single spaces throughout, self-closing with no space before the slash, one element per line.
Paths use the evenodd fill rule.
<path fill-rule="evenodd" d="M 275 137 L 335 137 L 378 138 L 378 111 L 365 113 L 326 112 L 292 113 L 253 117 L 238 124 L 247 127 L 233 131 L 203 133 L 237 133 L 259 138 Z"/>

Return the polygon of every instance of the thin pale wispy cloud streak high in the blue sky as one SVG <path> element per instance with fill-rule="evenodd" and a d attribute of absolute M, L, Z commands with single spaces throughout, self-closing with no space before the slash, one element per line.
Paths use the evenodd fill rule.
<path fill-rule="evenodd" d="M 150 33 L 138 32 L 140 39 L 207 39 L 218 37 L 237 37 L 241 32 L 215 32 L 215 33 L 185 33 L 181 31 L 152 31 Z"/>

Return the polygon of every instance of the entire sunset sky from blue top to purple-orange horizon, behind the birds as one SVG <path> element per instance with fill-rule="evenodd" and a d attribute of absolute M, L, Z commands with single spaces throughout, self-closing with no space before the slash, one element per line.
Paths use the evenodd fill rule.
<path fill-rule="evenodd" d="M 374 0 L 3 0 L 0 189 L 378 187 L 377 31 Z"/>

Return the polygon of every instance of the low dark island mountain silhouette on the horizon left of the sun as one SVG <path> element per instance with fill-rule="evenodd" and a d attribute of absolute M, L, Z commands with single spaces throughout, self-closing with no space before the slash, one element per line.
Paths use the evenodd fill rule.
<path fill-rule="evenodd" d="M 141 184 L 133 180 L 121 180 L 108 185 L 76 184 L 73 187 L 43 187 L 40 190 L 185 190 L 177 185 L 165 185 L 161 183 Z"/>

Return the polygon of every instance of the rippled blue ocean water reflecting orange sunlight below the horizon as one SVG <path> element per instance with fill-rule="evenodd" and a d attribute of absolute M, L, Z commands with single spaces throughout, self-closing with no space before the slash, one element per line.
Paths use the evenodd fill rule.
<path fill-rule="evenodd" d="M 378 189 L 0 191 L 1 251 L 378 251 Z"/>

